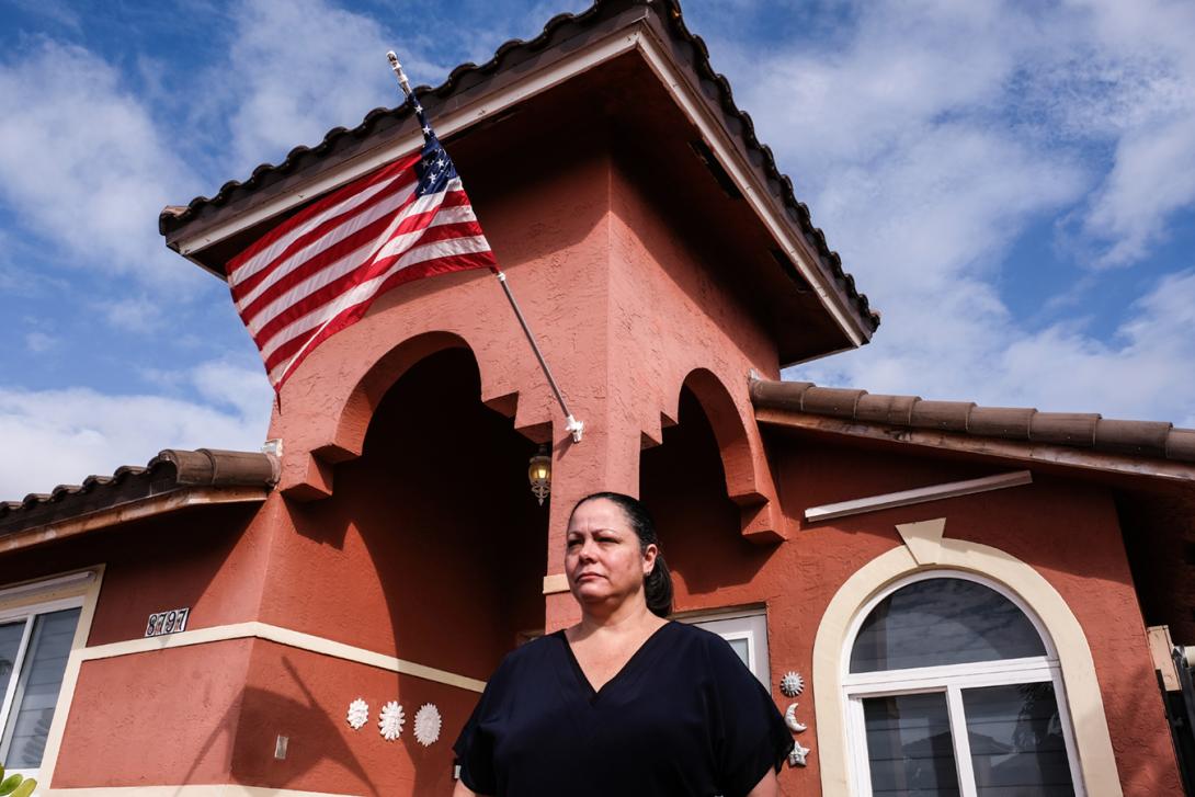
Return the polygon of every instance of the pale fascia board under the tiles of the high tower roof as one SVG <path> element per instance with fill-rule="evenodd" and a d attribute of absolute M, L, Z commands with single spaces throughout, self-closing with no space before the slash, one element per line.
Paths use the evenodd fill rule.
<path fill-rule="evenodd" d="M 834 317 L 835 323 L 846 333 L 852 345 L 862 345 L 864 339 L 862 321 L 854 318 L 853 309 L 846 306 L 846 302 L 839 296 L 838 292 L 827 287 L 827 277 L 815 265 L 817 255 L 810 249 L 804 237 L 793 229 L 784 211 L 776 207 L 776 202 L 771 198 L 771 191 L 758 178 L 754 167 L 739 151 L 737 146 L 731 142 L 722 124 L 713 118 L 709 108 L 700 99 L 700 96 L 672 67 L 670 60 L 664 55 L 666 47 L 656 42 L 650 32 L 635 31 L 590 43 L 575 54 L 562 59 L 546 72 L 532 73 L 503 91 L 479 98 L 477 102 L 468 103 L 449 114 L 440 116 L 436 118 L 436 131 L 441 139 L 445 139 L 458 130 L 476 124 L 529 97 L 543 93 L 606 61 L 611 61 L 624 53 L 636 49 L 644 56 L 664 88 L 673 96 L 676 105 L 701 131 L 701 136 L 710 145 L 718 163 L 730 174 L 730 178 L 735 182 L 735 186 L 746 197 L 747 203 L 776 239 L 777 244 L 779 244 L 780 249 L 784 250 L 784 253 L 796 264 L 801 275 L 813 286 L 822 305 Z M 360 159 L 348 160 L 317 179 L 312 179 L 308 183 L 300 183 L 296 190 L 289 194 L 275 197 L 253 210 L 229 219 L 222 225 L 216 225 L 204 232 L 179 239 L 177 241 L 177 250 L 183 257 L 194 260 L 191 256 L 200 250 L 261 221 L 284 213 L 311 197 L 339 188 L 378 168 L 382 164 L 387 164 L 405 153 L 413 152 L 422 143 L 423 140 L 419 134 L 411 134 L 384 148 L 374 149 Z M 217 274 L 216 276 L 223 278 L 223 275 Z"/>

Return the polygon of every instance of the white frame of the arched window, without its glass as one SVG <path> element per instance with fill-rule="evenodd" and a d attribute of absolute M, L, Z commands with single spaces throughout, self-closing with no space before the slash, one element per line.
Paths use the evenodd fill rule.
<path fill-rule="evenodd" d="M 871 612 L 893 593 L 931 578 L 960 578 L 987 587 L 1021 609 L 1046 648 L 1044 656 L 1027 656 L 1023 658 L 1004 658 L 970 664 L 944 664 L 937 667 L 914 667 L 907 669 L 880 670 L 875 673 L 851 673 L 851 652 L 858 638 L 863 623 Z M 963 712 L 962 691 L 985 686 L 1005 686 L 1010 683 L 1042 683 L 1054 686 L 1054 699 L 1058 704 L 1059 719 L 1062 725 L 1062 740 L 1066 744 L 1067 765 L 1071 770 L 1071 783 L 1076 797 L 1085 797 L 1083 773 L 1079 768 L 1079 755 L 1074 742 L 1074 730 L 1067 709 L 1066 687 L 1062 683 L 1062 668 L 1058 651 L 1037 615 L 1015 594 L 1001 584 L 973 572 L 962 570 L 925 570 L 888 584 L 866 602 L 856 614 L 848 633 L 846 648 L 840 658 L 842 697 L 846 707 L 846 736 L 850 760 L 850 778 L 852 793 L 859 797 L 871 797 L 871 767 L 868 756 L 868 736 L 864 723 L 864 698 L 894 697 L 900 694 L 944 693 L 946 712 L 950 723 L 950 736 L 955 748 L 955 768 L 958 774 L 958 789 L 962 797 L 976 797 L 975 774 L 972 770 L 970 741 Z"/>

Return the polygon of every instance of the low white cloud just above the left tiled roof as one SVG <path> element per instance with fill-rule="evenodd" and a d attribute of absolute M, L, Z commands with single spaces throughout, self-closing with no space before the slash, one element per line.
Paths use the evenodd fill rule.
<path fill-rule="evenodd" d="M 186 372 L 201 403 L 155 393 L 105 394 L 74 387 L 0 388 L 0 499 L 78 484 L 121 465 L 143 465 L 163 448 L 256 450 L 272 393 L 259 370 L 206 363 Z"/>

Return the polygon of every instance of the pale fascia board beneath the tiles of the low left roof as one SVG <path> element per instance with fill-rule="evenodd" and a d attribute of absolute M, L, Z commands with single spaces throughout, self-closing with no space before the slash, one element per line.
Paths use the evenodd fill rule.
<path fill-rule="evenodd" d="M 0 553 L 85 534 L 98 528 L 127 523 L 142 517 L 164 515 L 186 507 L 261 502 L 265 501 L 268 495 L 269 490 L 265 488 L 183 488 L 159 496 L 129 501 L 57 523 L 36 526 L 24 532 L 5 535 L 0 539 Z"/>

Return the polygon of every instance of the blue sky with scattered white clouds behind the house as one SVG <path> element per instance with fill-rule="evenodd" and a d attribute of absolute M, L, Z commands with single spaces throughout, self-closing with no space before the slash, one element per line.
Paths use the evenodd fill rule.
<path fill-rule="evenodd" d="M 387 49 L 437 84 L 587 5 L 0 0 L 0 498 L 258 447 L 256 351 L 158 211 L 394 105 Z M 884 315 L 786 376 L 1195 427 L 1195 5 L 685 14 Z"/>

